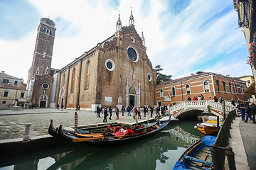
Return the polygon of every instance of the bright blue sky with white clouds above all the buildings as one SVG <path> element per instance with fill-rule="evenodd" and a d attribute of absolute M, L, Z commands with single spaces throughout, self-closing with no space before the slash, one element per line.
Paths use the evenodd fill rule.
<path fill-rule="evenodd" d="M 0 0 L 0 69 L 26 83 L 41 18 L 55 22 L 51 67 L 61 69 L 114 35 L 118 14 L 129 26 L 131 10 L 153 67 L 171 79 L 252 75 L 232 0 Z"/>

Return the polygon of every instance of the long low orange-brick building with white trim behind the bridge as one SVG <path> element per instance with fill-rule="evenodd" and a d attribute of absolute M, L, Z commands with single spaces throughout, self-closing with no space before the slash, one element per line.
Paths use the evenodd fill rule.
<path fill-rule="evenodd" d="M 203 95 L 203 100 L 213 101 L 213 97 L 223 97 L 224 100 L 247 101 L 244 94 L 246 81 L 223 76 L 212 72 L 197 72 L 188 77 L 166 81 L 156 86 L 156 103 L 158 106 L 174 105 L 188 101 L 188 96 Z"/>

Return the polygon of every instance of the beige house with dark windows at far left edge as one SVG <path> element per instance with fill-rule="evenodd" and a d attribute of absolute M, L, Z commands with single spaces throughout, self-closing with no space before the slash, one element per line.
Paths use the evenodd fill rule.
<path fill-rule="evenodd" d="M 26 107 L 28 91 L 22 79 L 18 79 L 4 71 L 0 73 L 0 109 L 11 109 L 12 106 Z"/>

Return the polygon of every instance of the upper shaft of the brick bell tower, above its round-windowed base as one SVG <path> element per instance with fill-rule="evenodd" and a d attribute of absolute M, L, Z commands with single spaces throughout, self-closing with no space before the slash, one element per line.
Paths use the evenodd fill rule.
<path fill-rule="evenodd" d="M 50 74 L 55 39 L 55 23 L 49 18 L 41 18 L 36 36 L 36 45 L 33 53 L 31 69 L 28 71 L 28 80 L 35 74 Z M 53 75 L 50 75 L 53 76 Z"/>

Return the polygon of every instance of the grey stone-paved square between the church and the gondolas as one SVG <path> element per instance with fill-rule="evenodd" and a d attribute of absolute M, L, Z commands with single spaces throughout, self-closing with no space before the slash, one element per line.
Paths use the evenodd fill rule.
<path fill-rule="evenodd" d="M 76 111 L 78 113 L 78 126 L 90 125 L 95 123 L 103 123 L 103 115 L 101 118 L 96 117 L 96 113 L 92 111 Z M 143 117 L 145 120 L 146 117 Z M 109 118 L 109 116 L 108 116 Z M 127 112 L 119 114 L 119 120 L 116 120 L 115 112 L 112 113 L 112 120 L 107 118 L 108 122 L 124 122 L 135 123 L 132 116 L 127 116 Z M 0 140 L 9 140 L 22 138 L 25 134 L 26 123 L 31 123 L 30 136 L 36 137 L 41 135 L 48 135 L 48 127 L 50 119 L 53 119 L 53 125 L 58 127 L 60 124 L 63 127 L 75 125 L 75 110 L 63 109 L 60 111 L 55 108 L 38 108 L 25 109 L 21 111 L 0 110 Z"/>

